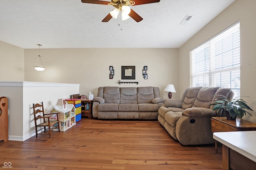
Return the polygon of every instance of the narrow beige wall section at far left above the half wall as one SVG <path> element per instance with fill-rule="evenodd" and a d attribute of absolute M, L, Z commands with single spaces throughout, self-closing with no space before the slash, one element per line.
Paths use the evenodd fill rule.
<path fill-rule="evenodd" d="M 24 81 L 24 49 L 0 41 L 0 81 Z"/>

